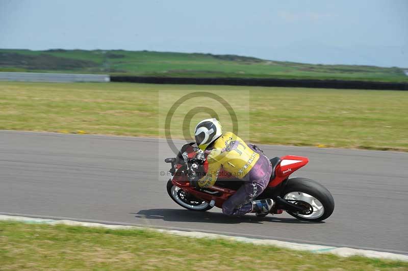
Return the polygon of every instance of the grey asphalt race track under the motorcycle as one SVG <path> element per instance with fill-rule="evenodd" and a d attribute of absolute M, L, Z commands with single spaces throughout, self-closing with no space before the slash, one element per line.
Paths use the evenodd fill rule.
<path fill-rule="evenodd" d="M 182 209 L 167 195 L 168 177 L 160 176 L 168 170 L 163 158 L 172 156 L 163 140 L 17 131 L 0 131 L 0 212 L 408 254 L 408 154 L 263 149 L 271 157 L 309 157 L 293 175 L 318 180 L 333 194 L 336 208 L 325 223 Z"/>

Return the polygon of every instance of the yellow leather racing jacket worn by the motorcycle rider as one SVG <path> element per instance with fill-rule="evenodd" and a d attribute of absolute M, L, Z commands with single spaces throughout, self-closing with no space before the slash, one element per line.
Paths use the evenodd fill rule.
<path fill-rule="evenodd" d="M 259 154 L 232 132 L 224 133 L 208 153 L 207 175 L 198 180 L 200 187 L 209 187 L 217 181 L 221 167 L 234 177 L 242 179 L 256 164 Z"/>

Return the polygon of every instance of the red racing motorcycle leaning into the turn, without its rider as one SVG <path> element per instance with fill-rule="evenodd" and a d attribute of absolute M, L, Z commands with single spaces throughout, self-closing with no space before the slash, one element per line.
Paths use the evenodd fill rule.
<path fill-rule="evenodd" d="M 169 172 L 172 175 L 167 182 L 167 193 L 174 202 L 188 210 L 207 211 L 214 206 L 222 208 L 224 201 L 236 193 L 243 181 L 221 169 L 213 186 L 192 185 L 189 176 L 196 176 L 197 169 L 206 161 L 205 153 L 194 144 L 185 144 L 176 157 L 165 159 L 165 162 L 171 163 Z M 273 199 L 275 204 L 271 214 L 286 211 L 296 219 L 318 222 L 333 213 L 333 196 L 323 185 L 307 178 L 289 178 L 293 172 L 308 164 L 308 158 L 286 155 L 274 157 L 270 162 L 272 174 L 269 184 L 256 199 Z"/>

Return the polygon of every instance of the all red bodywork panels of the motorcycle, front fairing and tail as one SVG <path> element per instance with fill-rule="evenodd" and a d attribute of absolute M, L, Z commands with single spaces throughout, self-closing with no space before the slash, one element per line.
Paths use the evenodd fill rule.
<path fill-rule="evenodd" d="M 189 158 L 193 157 L 195 152 L 189 152 Z M 300 169 L 304 165 L 308 164 L 309 159 L 306 157 L 301 156 L 294 156 L 294 155 L 287 155 L 281 157 L 281 162 L 279 165 L 275 167 L 275 178 L 269 181 L 269 187 L 276 187 L 278 184 L 282 183 L 285 179 L 287 179 L 293 172 Z M 205 169 L 207 170 L 208 165 L 204 165 Z M 274 165 L 272 165 L 274 166 Z M 214 196 L 207 193 L 203 193 L 197 191 L 196 189 L 190 187 L 190 183 L 187 179 L 185 174 L 182 174 L 180 171 L 181 165 L 177 165 L 176 172 L 171 180 L 175 186 L 178 186 L 185 190 L 188 193 L 193 194 L 195 197 L 210 202 L 211 200 L 215 201 L 215 206 L 222 208 L 222 204 L 226 199 L 228 199 L 231 195 L 235 194 L 235 190 L 228 189 L 219 186 L 211 186 L 209 187 L 213 191 L 222 192 L 221 196 Z M 218 179 L 232 179 L 231 174 L 227 174 L 223 170 L 220 171 L 218 174 Z"/>

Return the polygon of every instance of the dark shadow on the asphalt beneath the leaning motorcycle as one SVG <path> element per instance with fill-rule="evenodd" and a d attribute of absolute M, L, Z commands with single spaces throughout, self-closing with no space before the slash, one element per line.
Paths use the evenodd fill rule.
<path fill-rule="evenodd" d="M 194 212 L 183 209 L 148 209 L 140 210 L 135 218 L 138 219 L 161 219 L 163 221 L 172 222 L 198 222 L 198 223 L 216 223 L 216 224 L 263 224 L 263 222 L 272 223 L 291 223 L 291 224 L 316 224 L 324 222 L 306 222 L 295 218 L 277 218 L 275 216 L 266 216 L 264 218 L 257 218 L 254 215 L 244 216 L 227 216 L 219 212 Z"/>

